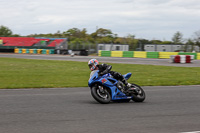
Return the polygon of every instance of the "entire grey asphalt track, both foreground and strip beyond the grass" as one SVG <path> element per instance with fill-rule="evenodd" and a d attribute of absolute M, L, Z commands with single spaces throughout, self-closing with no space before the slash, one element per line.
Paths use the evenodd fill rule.
<path fill-rule="evenodd" d="M 0 57 L 74 60 L 93 57 L 0 54 Z M 168 59 L 96 57 L 101 62 L 199 67 Z M 200 85 L 144 86 L 143 103 L 96 102 L 86 88 L 0 90 L 0 133 L 199 133 Z"/>

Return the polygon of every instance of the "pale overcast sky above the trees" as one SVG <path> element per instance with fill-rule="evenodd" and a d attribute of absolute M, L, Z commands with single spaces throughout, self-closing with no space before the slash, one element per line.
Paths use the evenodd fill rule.
<path fill-rule="evenodd" d="M 13 34 L 47 34 L 71 28 L 111 30 L 119 37 L 171 41 L 200 30 L 200 0 L 0 0 L 0 25 Z"/>

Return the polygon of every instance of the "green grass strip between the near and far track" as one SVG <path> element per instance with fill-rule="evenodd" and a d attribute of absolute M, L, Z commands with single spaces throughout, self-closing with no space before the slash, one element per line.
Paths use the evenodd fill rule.
<path fill-rule="evenodd" d="M 113 64 L 141 86 L 200 85 L 200 67 Z M 0 58 L 0 88 L 86 87 L 87 62 Z"/>

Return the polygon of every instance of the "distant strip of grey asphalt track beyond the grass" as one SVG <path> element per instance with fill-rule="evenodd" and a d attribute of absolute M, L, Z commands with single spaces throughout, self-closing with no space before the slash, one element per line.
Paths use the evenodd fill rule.
<path fill-rule="evenodd" d="M 170 59 L 148 59 L 148 58 L 118 58 L 118 57 L 98 57 L 98 56 L 67 56 L 67 55 L 35 55 L 35 54 L 0 54 L 0 57 L 23 58 L 23 59 L 43 59 L 43 60 L 69 60 L 88 62 L 96 58 L 100 63 L 124 63 L 124 64 L 145 64 L 177 67 L 200 67 L 200 60 L 193 60 L 192 63 L 171 63 Z"/>

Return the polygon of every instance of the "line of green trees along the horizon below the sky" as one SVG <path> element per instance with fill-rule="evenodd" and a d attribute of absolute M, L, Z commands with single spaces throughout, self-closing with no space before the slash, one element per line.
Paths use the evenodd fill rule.
<path fill-rule="evenodd" d="M 0 37 L 21 37 L 19 34 L 13 34 L 12 30 L 6 26 L 0 26 Z M 125 37 L 119 37 L 110 29 L 98 28 L 95 32 L 88 34 L 87 29 L 71 28 L 67 31 L 48 34 L 30 34 L 24 37 L 46 37 L 46 38 L 67 38 L 69 46 L 90 46 L 96 47 L 98 43 L 104 44 L 128 44 L 129 50 L 137 50 L 141 44 L 185 44 L 200 47 L 200 30 L 194 32 L 193 38 L 184 39 L 183 34 L 177 31 L 172 35 L 170 41 L 137 39 L 135 35 L 128 34 Z M 143 46 L 143 45 L 142 45 Z M 144 47 L 142 49 L 144 50 Z"/>

